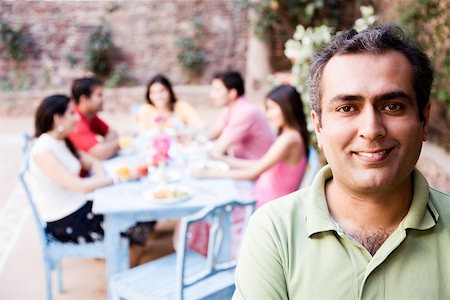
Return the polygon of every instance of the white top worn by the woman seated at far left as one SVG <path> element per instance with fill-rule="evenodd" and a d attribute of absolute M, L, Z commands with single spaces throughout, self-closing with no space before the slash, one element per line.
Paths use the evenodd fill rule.
<path fill-rule="evenodd" d="M 34 157 L 41 151 L 51 151 L 70 173 L 78 176 L 80 161 L 70 152 L 64 140 L 44 133 L 36 139 L 30 151 L 29 182 L 33 200 L 45 222 L 60 220 L 86 203 L 86 196 L 57 184 L 35 163 Z"/>

